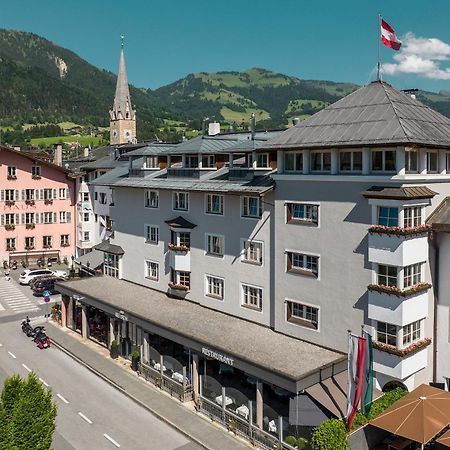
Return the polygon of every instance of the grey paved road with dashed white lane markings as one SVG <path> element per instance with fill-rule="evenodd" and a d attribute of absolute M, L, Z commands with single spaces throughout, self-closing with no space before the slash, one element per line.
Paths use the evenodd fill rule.
<path fill-rule="evenodd" d="M 199 449 L 56 348 L 39 350 L 22 333 L 17 315 L 1 319 L 0 382 L 32 370 L 52 389 L 58 405 L 55 450 Z"/>

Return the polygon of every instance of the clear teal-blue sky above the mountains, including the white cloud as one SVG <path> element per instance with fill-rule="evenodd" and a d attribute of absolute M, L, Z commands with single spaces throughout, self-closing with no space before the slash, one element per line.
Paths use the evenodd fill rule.
<path fill-rule="evenodd" d="M 250 67 L 363 84 L 374 77 L 378 13 L 401 39 L 413 33 L 397 60 L 383 48 L 384 79 L 450 90 L 449 0 L 0 0 L 0 27 L 37 33 L 113 72 L 123 33 L 139 87 Z"/>

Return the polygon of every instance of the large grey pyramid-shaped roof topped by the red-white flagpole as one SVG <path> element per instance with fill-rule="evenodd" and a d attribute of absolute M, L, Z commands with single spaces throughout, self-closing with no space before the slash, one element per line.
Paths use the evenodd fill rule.
<path fill-rule="evenodd" d="M 450 119 L 391 85 L 374 81 L 262 149 L 408 144 L 450 148 Z"/>

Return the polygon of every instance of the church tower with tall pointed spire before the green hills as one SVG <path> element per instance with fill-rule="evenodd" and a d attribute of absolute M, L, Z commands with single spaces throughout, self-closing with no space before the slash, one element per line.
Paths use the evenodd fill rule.
<path fill-rule="evenodd" d="M 136 142 L 136 111 L 131 106 L 125 56 L 123 54 L 123 36 L 116 95 L 112 110 L 109 111 L 109 119 L 109 142 L 111 145 Z"/>

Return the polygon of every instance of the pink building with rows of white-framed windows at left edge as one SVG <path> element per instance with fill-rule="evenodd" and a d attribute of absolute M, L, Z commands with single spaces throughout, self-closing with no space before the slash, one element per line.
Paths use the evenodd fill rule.
<path fill-rule="evenodd" d="M 75 253 L 75 180 L 32 154 L 0 147 L 0 261 Z"/>

